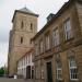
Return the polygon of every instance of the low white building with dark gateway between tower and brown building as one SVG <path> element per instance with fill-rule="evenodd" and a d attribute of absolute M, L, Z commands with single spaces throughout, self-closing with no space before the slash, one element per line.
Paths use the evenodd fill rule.
<path fill-rule="evenodd" d="M 25 79 L 34 78 L 33 49 L 17 61 L 17 75 Z"/>

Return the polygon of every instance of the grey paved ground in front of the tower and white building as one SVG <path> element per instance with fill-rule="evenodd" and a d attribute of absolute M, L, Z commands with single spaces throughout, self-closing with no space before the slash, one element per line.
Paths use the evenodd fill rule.
<path fill-rule="evenodd" d="M 24 80 L 24 79 L 7 79 L 7 78 L 0 78 L 0 82 L 33 82 L 31 80 Z"/>

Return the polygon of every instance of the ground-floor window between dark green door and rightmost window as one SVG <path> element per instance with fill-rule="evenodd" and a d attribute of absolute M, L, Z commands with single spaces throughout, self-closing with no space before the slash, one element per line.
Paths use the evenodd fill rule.
<path fill-rule="evenodd" d="M 57 67 L 57 80 L 62 80 L 62 67 L 59 60 L 56 62 L 56 67 Z"/>

